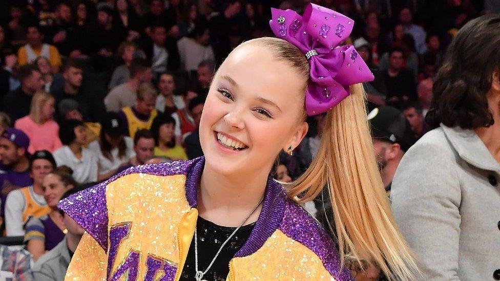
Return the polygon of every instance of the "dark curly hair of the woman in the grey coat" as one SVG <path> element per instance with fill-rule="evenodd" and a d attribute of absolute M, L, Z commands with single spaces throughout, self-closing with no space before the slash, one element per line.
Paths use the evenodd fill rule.
<path fill-rule="evenodd" d="M 486 94 L 500 68 L 500 14 L 470 20 L 453 38 L 439 70 L 427 123 L 463 129 L 493 124 Z"/>

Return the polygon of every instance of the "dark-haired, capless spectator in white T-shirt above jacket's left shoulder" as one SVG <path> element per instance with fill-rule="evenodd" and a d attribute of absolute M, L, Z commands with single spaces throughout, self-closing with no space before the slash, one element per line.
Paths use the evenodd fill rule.
<path fill-rule="evenodd" d="M 59 129 L 59 138 L 64 146 L 53 154 L 57 166 L 71 168 L 73 178 L 78 183 L 96 182 L 98 158 L 84 146 L 87 143 L 85 123 L 76 119 L 66 121 Z"/>

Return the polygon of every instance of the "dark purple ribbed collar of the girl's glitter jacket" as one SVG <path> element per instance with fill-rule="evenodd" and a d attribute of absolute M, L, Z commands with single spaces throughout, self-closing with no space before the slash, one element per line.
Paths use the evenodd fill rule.
<path fill-rule="evenodd" d="M 193 160 L 188 168 L 186 179 L 186 198 L 191 207 L 198 205 L 198 185 L 203 171 L 205 158 Z M 235 257 L 247 256 L 255 253 L 264 245 L 264 242 L 279 228 L 285 212 L 286 193 L 284 188 L 272 177 L 268 177 L 264 194 L 264 205 L 254 229 L 248 240 L 236 253 Z"/>

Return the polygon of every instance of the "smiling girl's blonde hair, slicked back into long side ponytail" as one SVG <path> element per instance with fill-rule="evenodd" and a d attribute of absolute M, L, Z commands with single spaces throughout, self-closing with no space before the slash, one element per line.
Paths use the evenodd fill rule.
<path fill-rule="evenodd" d="M 309 62 L 294 45 L 278 38 L 246 42 L 276 51 L 309 81 Z M 321 143 L 313 162 L 295 182 L 287 185 L 289 197 L 313 200 L 326 186 L 334 214 L 342 264 L 360 270 L 379 267 L 389 279 L 413 279 L 418 272 L 412 251 L 394 223 L 389 201 L 373 153 L 361 84 L 326 114 Z M 305 110 L 303 117 L 305 120 Z"/>

